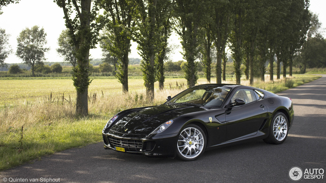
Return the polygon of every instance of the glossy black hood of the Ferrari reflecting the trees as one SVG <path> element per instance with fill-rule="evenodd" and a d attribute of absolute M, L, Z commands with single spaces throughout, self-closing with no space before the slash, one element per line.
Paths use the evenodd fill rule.
<path fill-rule="evenodd" d="M 200 111 L 198 106 L 162 104 L 140 109 L 127 114 L 117 121 L 110 130 L 123 134 L 150 134 L 158 126 L 176 116 Z"/>

